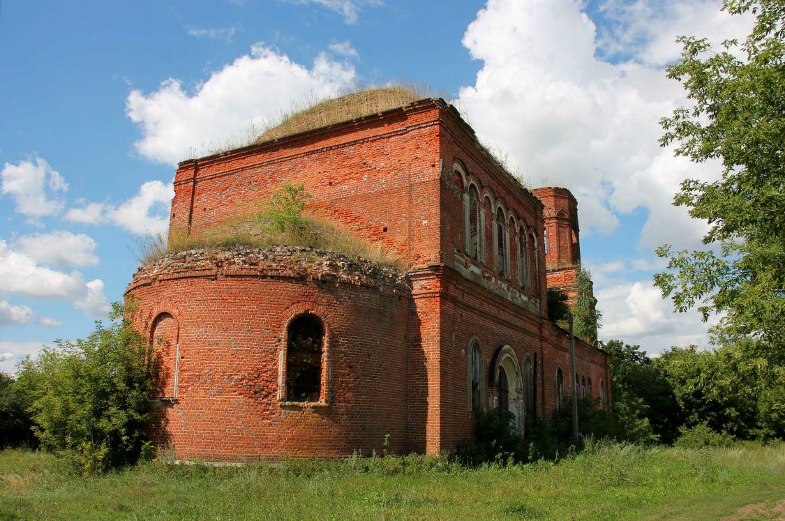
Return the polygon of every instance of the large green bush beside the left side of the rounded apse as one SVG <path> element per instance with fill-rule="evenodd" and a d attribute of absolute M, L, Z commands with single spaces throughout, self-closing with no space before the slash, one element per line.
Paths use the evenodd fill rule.
<path fill-rule="evenodd" d="M 35 435 L 84 474 L 136 461 L 152 393 L 152 351 L 133 329 L 133 309 L 114 304 L 111 322 L 86 340 L 57 341 L 20 366 Z"/>

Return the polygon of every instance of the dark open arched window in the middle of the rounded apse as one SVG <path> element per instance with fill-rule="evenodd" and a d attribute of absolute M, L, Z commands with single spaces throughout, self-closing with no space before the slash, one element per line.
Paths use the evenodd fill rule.
<path fill-rule="evenodd" d="M 289 402 L 318 402 L 322 388 L 324 327 L 313 315 L 302 315 L 287 330 L 287 388 Z"/>

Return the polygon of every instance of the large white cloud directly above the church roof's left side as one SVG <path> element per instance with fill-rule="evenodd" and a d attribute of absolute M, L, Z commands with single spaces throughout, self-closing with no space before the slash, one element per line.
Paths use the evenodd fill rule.
<path fill-rule="evenodd" d="M 308 69 L 260 43 L 214 72 L 192 96 L 174 78 L 148 95 L 132 90 L 126 115 L 141 129 L 137 151 L 175 165 L 208 144 L 240 144 L 250 126 L 274 121 L 306 96 L 334 95 L 355 75 L 354 67 L 324 53 Z"/>

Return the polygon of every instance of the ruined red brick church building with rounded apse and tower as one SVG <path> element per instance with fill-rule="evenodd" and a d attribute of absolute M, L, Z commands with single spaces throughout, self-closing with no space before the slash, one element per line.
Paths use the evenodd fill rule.
<path fill-rule="evenodd" d="M 170 236 L 246 215 L 284 182 L 405 268 L 295 247 L 140 268 L 127 296 L 159 354 L 159 446 L 208 461 L 440 454 L 471 436 L 473 411 L 509 410 L 525 436 L 564 406 L 576 378 L 546 287 L 568 291 L 579 260 L 568 190 L 527 190 L 428 98 L 181 162 Z M 605 398 L 608 355 L 575 348 L 579 393 Z"/>

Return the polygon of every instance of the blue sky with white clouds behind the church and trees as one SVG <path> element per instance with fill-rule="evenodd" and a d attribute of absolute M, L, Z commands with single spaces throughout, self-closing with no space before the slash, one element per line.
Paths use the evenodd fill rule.
<path fill-rule="evenodd" d="M 533 187 L 579 199 L 601 338 L 705 344 L 652 287 L 665 242 L 703 224 L 670 199 L 712 179 L 659 148 L 683 105 L 677 35 L 747 33 L 714 0 L 216 0 L 0 4 L 0 370 L 86 336 L 166 227 L 177 161 L 352 84 L 404 79 L 453 100 Z"/>

